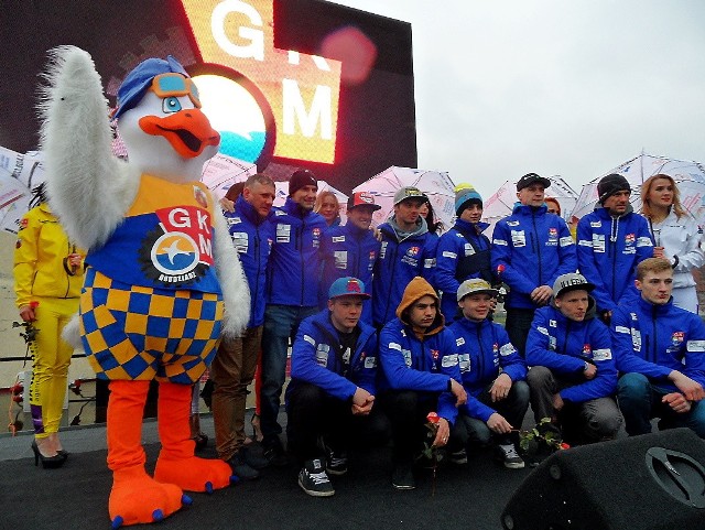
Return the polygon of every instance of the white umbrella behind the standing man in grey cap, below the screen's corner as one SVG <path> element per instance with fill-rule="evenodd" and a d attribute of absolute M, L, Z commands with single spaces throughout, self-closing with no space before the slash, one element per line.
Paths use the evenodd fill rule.
<path fill-rule="evenodd" d="M 443 221 L 444 229 L 453 226 L 455 217 L 455 184 L 447 172 L 414 170 L 392 165 L 365 181 L 352 192 L 368 192 L 375 196 L 375 203 L 381 206 L 372 215 L 372 224 L 384 223 L 394 212 L 394 194 L 404 186 L 415 186 L 429 197 L 436 217 Z"/>

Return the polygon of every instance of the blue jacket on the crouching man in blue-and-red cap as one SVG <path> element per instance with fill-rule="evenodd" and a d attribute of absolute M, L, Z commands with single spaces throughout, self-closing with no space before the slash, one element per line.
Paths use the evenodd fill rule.
<path fill-rule="evenodd" d="M 358 387 L 375 396 L 377 378 L 377 333 L 372 326 L 359 323 L 360 336 L 351 353 L 350 367 L 343 375 L 338 357 L 338 332 L 330 322 L 328 310 L 316 313 L 299 326 L 291 353 L 291 381 L 286 393 L 301 381 L 321 387 L 340 400 L 352 397 Z"/>

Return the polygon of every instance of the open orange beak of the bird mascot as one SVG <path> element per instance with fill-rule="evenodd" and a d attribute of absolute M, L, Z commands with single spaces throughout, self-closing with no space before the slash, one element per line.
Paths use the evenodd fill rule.
<path fill-rule="evenodd" d="M 198 156 L 206 147 L 220 143 L 220 134 L 197 108 L 180 110 L 164 118 L 144 116 L 139 123 L 148 134 L 164 137 L 185 159 Z"/>

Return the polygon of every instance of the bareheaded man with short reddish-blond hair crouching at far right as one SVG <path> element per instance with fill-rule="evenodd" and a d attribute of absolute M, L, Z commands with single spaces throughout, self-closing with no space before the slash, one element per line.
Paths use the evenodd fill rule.
<path fill-rule="evenodd" d="M 673 268 L 649 258 L 637 266 L 634 304 L 612 314 L 611 333 L 620 374 L 617 399 L 627 434 L 688 426 L 705 437 L 705 324 L 673 305 Z"/>

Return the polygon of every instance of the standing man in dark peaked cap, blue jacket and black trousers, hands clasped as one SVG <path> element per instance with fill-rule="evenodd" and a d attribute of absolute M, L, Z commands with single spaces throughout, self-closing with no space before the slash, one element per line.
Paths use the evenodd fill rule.
<path fill-rule="evenodd" d="M 561 274 L 577 270 L 575 244 L 565 221 L 543 202 L 549 179 L 528 173 L 517 183 L 519 205 L 495 226 L 492 270 L 509 285 L 507 334 L 523 357 L 533 314 L 551 299 Z"/>

